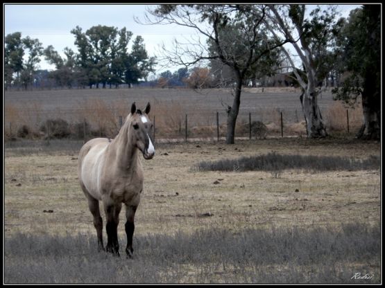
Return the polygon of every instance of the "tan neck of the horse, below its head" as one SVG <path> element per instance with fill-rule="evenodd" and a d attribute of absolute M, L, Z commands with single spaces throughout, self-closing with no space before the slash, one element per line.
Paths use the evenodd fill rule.
<path fill-rule="evenodd" d="M 115 163 L 122 170 L 130 170 L 137 165 L 138 149 L 130 141 L 129 127 L 130 125 L 124 125 L 111 143 L 112 148 L 115 150 Z"/>

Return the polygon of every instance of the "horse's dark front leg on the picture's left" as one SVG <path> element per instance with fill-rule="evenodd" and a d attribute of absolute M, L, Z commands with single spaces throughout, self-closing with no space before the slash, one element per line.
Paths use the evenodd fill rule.
<path fill-rule="evenodd" d="M 119 242 L 118 242 L 118 224 L 121 204 L 105 205 L 105 216 L 107 224 L 105 230 L 107 231 L 107 246 L 108 252 L 119 256 Z"/>

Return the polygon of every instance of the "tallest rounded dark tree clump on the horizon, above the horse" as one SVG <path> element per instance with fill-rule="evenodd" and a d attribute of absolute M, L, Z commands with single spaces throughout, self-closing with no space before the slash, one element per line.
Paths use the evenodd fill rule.
<path fill-rule="evenodd" d="M 148 57 L 144 40 L 137 36 L 128 52 L 128 44 L 132 32 L 125 27 L 118 30 L 112 26 L 92 26 L 85 33 L 78 26 L 71 30 L 78 46 L 76 62 L 86 71 L 89 87 L 99 83 L 119 84 L 126 82 L 131 85 L 139 78 L 146 78 L 153 71 L 155 58 Z"/>

